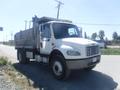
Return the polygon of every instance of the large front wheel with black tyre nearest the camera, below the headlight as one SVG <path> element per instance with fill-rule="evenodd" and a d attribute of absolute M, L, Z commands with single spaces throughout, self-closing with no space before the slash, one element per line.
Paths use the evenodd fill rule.
<path fill-rule="evenodd" d="M 56 55 L 55 57 L 53 57 L 50 66 L 55 78 L 57 78 L 58 80 L 64 80 L 68 78 L 70 70 L 67 68 L 62 56 Z"/>

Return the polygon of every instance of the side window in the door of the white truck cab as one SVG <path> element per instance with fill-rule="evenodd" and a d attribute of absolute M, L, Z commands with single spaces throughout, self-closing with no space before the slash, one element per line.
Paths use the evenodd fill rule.
<path fill-rule="evenodd" d="M 50 24 L 44 24 L 41 33 L 42 38 L 51 38 Z"/>

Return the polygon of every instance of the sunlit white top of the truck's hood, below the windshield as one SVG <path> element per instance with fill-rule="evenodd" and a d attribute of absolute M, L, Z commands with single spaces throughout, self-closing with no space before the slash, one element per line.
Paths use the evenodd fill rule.
<path fill-rule="evenodd" d="M 64 44 L 64 45 L 96 45 L 97 42 L 94 42 L 92 40 L 84 39 L 84 38 L 64 38 L 64 39 L 58 39 L 56 40 L 57 44 Z"/>

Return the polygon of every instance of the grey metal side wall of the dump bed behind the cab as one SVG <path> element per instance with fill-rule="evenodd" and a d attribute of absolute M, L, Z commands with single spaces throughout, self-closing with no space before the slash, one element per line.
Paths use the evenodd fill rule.
<path fill-rule="evenodd" d="M 15 48 L 35 49 L 37 48 L 38 29 L 20 31 L 15 35 Z"/>

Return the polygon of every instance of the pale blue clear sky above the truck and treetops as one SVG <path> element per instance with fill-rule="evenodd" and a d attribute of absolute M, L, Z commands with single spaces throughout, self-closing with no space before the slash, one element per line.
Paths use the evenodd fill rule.
<path fill-rule="evenodd" d="M 105 31 L 105 36 L 112 39 L 112 33 L 120 35 L 120 0 L 60 0 L 61 19 L 68 19 L 82 27 L 83 34 Z M 13 39 L 14 34 L 25 29 L 25 20 L 32 17 L 57 16 L 55 0 L 0 0 L 0 41 Z M 29 25 L 27 25 L 27 28 Z M 12 36 L 12 37 L 11 37 Z"/>

